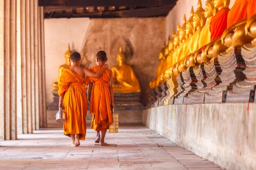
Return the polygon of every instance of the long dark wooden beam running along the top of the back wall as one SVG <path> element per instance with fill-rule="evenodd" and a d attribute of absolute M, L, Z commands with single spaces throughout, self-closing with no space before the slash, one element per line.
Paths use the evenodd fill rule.
<path fill-rule="evenodd" d="M 152 7 L 124 11 L 103 11 L 96 13 L 45 13 L 45 18 L 121 18 L 121 17 L 157 17 L 169 13 L 173 7 Z"/>

